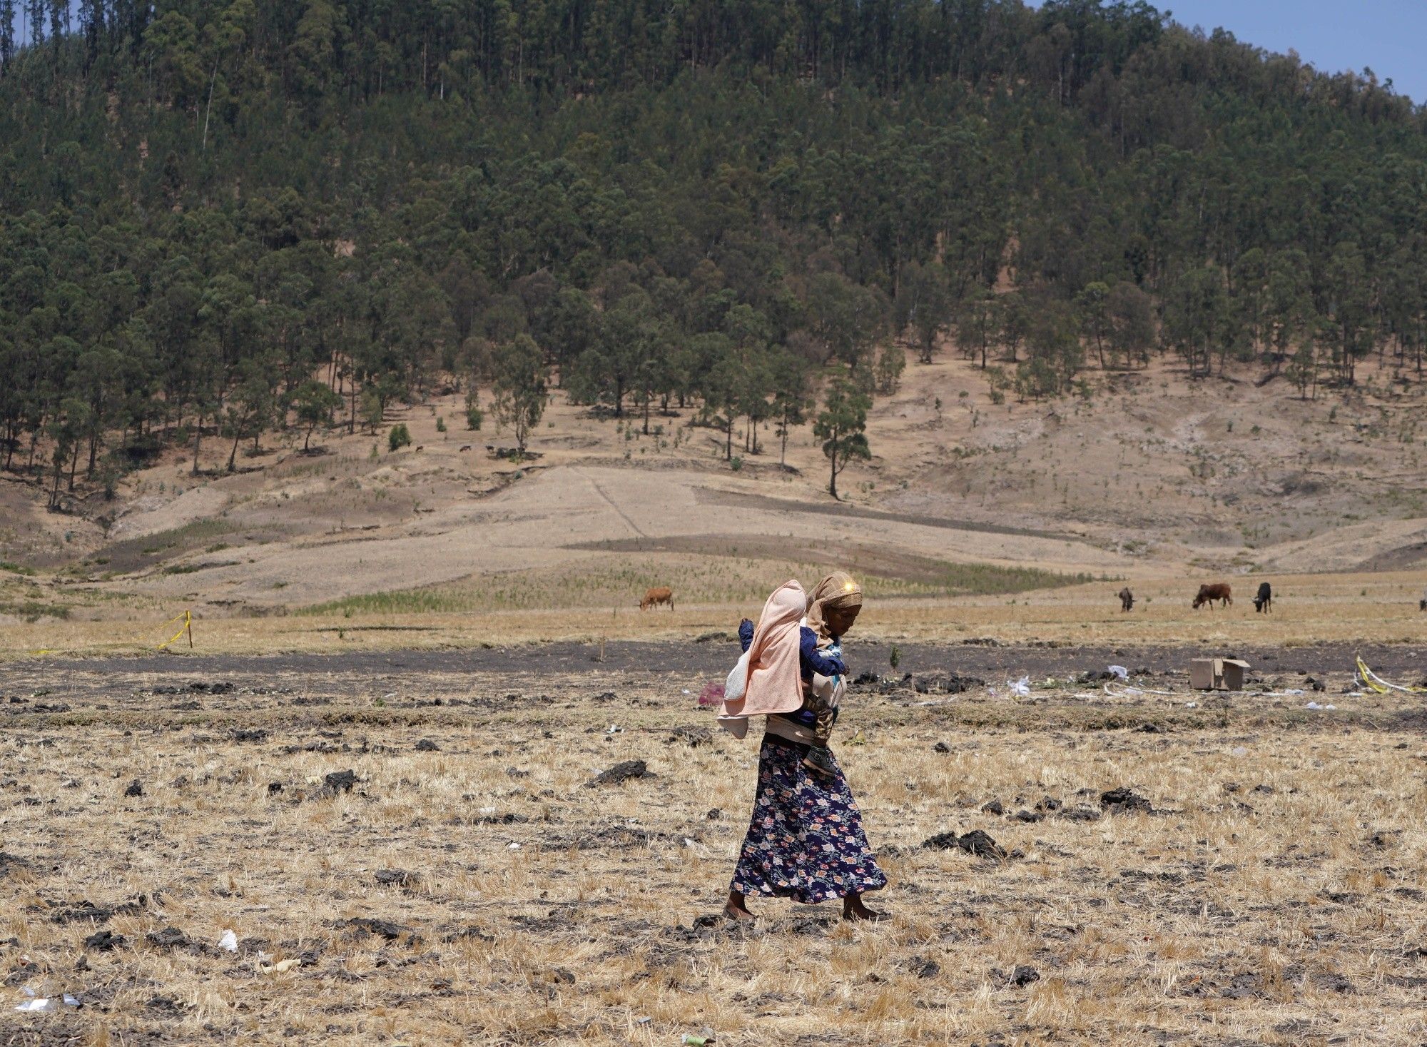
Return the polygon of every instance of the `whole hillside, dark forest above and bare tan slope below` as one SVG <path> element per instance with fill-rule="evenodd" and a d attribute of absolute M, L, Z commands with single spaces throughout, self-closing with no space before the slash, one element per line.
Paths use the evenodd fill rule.
<path fill-rule="evenodd" d="M 1144 3 L 81 7 L 0 26 L 0 556 L 74 585 L 11 613 L 1421 562 L 1370 78 Z"/>

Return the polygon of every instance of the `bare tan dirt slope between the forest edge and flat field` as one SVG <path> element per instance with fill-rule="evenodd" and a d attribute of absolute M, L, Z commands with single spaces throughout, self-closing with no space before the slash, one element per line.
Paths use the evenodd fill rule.
<path fill-rule="evenodd" d="M 171 449 L 114 501 L 81 485 L 61 514 L 43 511 L 37 481 L 7 475 L 0 562 L 40 573 L 19 592 L 0 566 L 0 622 L 176 602 L 273 613 L 472 579 L 501 606 L 531 588 L 538 606 L 588 606 L 661 573 L 708 603 L 761 589 L 773 565 L 831 561 L 910 595 L 985 591 L 958 583 L 968 563 L 1116 579 L 1427 565 L 1427 415 L 1391 375 L 1368 368 L 1317 401 L 1281 379 L 1187 382 L 1166 364 L 1087 388 L 997 405 L 950 351 L 912 364 L 876 401 L 875 456 L 842 476 L 845 504 L 826 495 L 809 429 L 792 434 L 788 468 L 773 434 L 752 454 L 741 429 L 735 469 L 691 411 L 645 432 L 561 392 L 524 464 L 487 452 L 508 436 L 462 431 L 462 394 L 448 394 L 392 414 L 415 439 L 394 454 L 385 428 L 334 431 L 311 455 L 287 432 L 230 475 L 210 435 L 197 475 L 191 448 Z M 588 583 L 551 592 L 552 576 Z"/>

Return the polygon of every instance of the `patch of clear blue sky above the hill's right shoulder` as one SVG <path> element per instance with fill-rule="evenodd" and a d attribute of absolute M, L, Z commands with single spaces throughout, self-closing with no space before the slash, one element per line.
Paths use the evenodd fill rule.
<path fill-rule="evenodd" d="M 1152 0 L 1153 1 L 1153 0 Z M 1159 0 L 1182 26 L 1224 27 L 1269 51 L 1290 48 L 1321 73 L 1370 67 L 1427 101 L 1427 0 Z"/>

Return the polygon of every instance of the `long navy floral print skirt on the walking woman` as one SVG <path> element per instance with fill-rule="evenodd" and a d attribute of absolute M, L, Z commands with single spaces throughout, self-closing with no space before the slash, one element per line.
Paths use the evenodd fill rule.
<path fill-rule="evenodd" d="M 885 887 L 842 767 L 833 777 L 819 776 L 802 766 L 805 752 L 763 737 L 753 817 L 732 890 L 813 904 Z"/>

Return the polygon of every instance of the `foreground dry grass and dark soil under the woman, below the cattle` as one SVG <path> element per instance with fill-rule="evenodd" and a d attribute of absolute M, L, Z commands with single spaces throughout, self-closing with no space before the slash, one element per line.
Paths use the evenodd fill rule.
<path fill-rule="evenodd" d="M 892 921 L 752 930 L 716 913 L 756 743 L 696 699 L 731 649 L 6 665 L 0 1043 L 1423 1038 L 1423 698 L 1344 692 L 1427 645 L 1247 649 L 1270 693 L 1227 703 L 1194 649 L 908 645 L 835 739 Z M 926 846 L 972 830 L 1003 856 Z"/>

